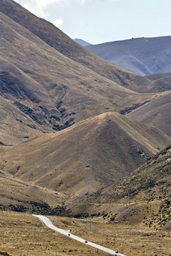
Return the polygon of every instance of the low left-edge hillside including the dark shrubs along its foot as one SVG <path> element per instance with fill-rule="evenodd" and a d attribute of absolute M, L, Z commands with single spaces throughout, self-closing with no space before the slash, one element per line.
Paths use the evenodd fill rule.
<path fill-rule="evenodd" d="M 5 172 L 3 165 L 0 167 L 0 211 L 11 210 L 18 212 L 37 213 L 54 211 L 53 208 L 61 206 L 65 196 L 36 186 L 34 182 L 21 181 Z M 58 213 L 57 213 L 58 214 Z"/>

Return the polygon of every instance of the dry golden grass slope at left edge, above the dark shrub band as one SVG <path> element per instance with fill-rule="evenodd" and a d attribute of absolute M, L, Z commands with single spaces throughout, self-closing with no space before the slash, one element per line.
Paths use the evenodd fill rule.
<path fill-rule="evenodd" d="M 29 202 L 44 202 L 55 207 L 61 205 L 61 200 L 65 196 L 62 193 L 47 189 L 45 187 L 35 186 L 15 178 L 9 173 L 0 171 L 0 206 L 26 206 L 29 208 Z"/>

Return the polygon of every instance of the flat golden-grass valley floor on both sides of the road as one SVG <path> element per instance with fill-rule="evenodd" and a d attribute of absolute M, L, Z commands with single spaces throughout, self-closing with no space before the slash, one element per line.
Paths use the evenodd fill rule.
<path fill-rule="evenodd" d="M 50 217 L 54 225 L 127 256 L 171 255 L 170 232 L 141 224 L 107 224 L 102 219 Z M 105 253 L 47 229 L 29 214 L 0 212 L 0 255 L 100 256 Z M 6 252 L 6 254 L 3 254 Z"/>

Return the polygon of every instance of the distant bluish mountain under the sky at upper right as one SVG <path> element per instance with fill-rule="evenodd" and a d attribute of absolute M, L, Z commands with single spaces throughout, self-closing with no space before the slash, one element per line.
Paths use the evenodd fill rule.
<path fill-rule="evenodd" d="M 171 72 L 171 37 L 132 38 L 87 49 L 137 75 Z"/>

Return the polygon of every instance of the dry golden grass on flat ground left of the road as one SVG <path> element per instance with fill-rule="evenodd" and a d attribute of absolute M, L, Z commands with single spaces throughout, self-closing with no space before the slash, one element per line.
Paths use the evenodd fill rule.
<path fill-rule="evenodd" d="M 28 214 L 1 212 L 0 239 L 0 252 L 12 256 L 105 255 L 48 230 L 38 219 Z"/>

